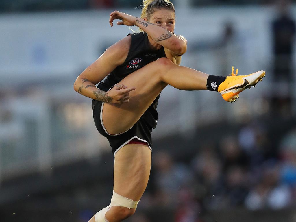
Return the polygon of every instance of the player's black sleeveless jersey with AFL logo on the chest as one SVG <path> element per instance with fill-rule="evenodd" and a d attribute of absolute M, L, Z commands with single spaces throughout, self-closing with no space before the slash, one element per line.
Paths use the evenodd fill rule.
<path fill-rule="evenodd" d="M 153 50 L 150 48 L 148 37 L 145 36 L 143 32 L 131 33 L 131 46 L 126 60 L 122 65 L 119 65 L 108 74 L 107 78 L 99 83 L 98 88 L 103 91 L 108 91 L 112 86 L 119 83 L 130 73 L 133 73 L 161 57 L 166 57 L 164 47 L 158 50 Z M 154 129 L 158 119 L 156 107 L 159 97 L 160 94 L 141 117 Z"/>

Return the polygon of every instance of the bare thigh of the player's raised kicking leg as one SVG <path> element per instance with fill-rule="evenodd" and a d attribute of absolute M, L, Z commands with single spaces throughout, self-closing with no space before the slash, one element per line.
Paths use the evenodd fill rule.
<path fill-rule="evenodd" d="M 152 104 L 160 92 L 167 86 L 159 75 L 154 75 L 154 61 L 145 67 L 129 74 L 118 84 L 136 89 L 130 92 L 128 103 L 104 103 L 102 120 L 109 134 L 118 134 L 130 129 Z"/>

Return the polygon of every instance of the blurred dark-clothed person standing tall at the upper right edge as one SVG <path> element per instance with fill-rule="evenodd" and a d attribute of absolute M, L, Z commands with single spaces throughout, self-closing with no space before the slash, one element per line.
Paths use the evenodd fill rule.
<path fill-rule="evenodd" d="M 279 16 L 272 22 L 274 37 L 274 84 L 280 86 L 280 92 L 276 92 L 272 98 L 272 106 L 275 112 L 281 115 L 289 115 L 292 109 L 292 98 L 295 81 L 293 73 L 293 44 L 295 37 L 295 21 L 289 15 L 289 1 L 277 2 Z"/>

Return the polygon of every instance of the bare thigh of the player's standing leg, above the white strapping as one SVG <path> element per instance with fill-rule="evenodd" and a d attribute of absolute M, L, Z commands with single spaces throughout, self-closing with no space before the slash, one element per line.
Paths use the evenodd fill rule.
<path fill-rule="evenodd" d="M 128 144 L 115 154 L 114 192 L 134 201 L 142 197 L 150 175 L 151 150 L 148 145 Z M 105 217 L 111 220 L 120 207 L 111 207 Z M 121 207 L 124 208 L 124 207 Z M 128 210 L 126 208 L 126 210 Z"/>

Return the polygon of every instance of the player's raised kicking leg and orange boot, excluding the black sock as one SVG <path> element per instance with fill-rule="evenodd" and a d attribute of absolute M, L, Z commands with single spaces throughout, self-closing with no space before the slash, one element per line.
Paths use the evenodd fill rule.
<path fill-rule="evenodd" d="M 235 101 L 240 92 L 255 86 L 265 76 L 263 70 L 245 76 L 232 74 L 216 89 L 228 102 Z M 167 85 L 180 90 L 205 90 L 208 77 L 208 74 L 176 65 L 167 58 L 149 63 L 120 81 L 119 84 L 136 87 L 130 92 L 128 103 L 104 104 L 102 120 L 106 131 L 118 134 L 130 129 Z"/>

